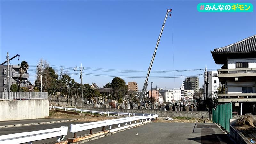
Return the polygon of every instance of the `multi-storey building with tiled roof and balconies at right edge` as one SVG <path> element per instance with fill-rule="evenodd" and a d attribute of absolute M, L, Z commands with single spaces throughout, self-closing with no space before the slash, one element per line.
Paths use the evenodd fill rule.
<path fill-rule="evenodd" d="M 233 112 L 252 113 L 256 103 L 256 35 L 211 51 L 218 78 L 225 93 L 218 94 L 219 103 L 233 105 Z M 255 112 L 254 112 L 255 114 Z"/>

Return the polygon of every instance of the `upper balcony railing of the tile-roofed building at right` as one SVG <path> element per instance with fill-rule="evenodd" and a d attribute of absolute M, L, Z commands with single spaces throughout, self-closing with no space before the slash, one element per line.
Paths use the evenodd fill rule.
<path fill-rule="evenodd" d="M 218 77 L 256 76 L 256 68 L 218 69 Z"/>

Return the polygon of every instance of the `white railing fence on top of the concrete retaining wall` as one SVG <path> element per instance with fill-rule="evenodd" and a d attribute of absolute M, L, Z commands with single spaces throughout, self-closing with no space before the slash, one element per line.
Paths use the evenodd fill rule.
<path fill-rule="evenodd" d="M 48 99 L 48 92 L 0 92 L 0 100 Z"/>

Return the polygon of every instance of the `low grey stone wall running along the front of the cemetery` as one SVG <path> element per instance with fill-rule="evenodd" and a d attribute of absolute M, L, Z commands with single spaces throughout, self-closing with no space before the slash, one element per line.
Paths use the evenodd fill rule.
<path fill-rule="evenodd" d="M 115 109 L 115 108 L 88 108 L 88 110 L 95 111 L 110 111 L 110 112 L 124 112 L 124 113 L 148 113 L 158 114 L 161 117 L 190 117 L 190 118 L 209 118 L 208 111 L 159 111 L 157 109 Z"/>

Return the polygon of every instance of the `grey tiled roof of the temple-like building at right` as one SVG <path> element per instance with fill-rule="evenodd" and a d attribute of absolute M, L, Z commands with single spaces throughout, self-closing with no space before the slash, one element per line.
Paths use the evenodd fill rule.
<path fill-rule="evenodd" d="M 256 35 L 245 38 L 234 44 L 216 48 L 212 53 L 229 53 L 229 52 L 256 52 Z"/>

